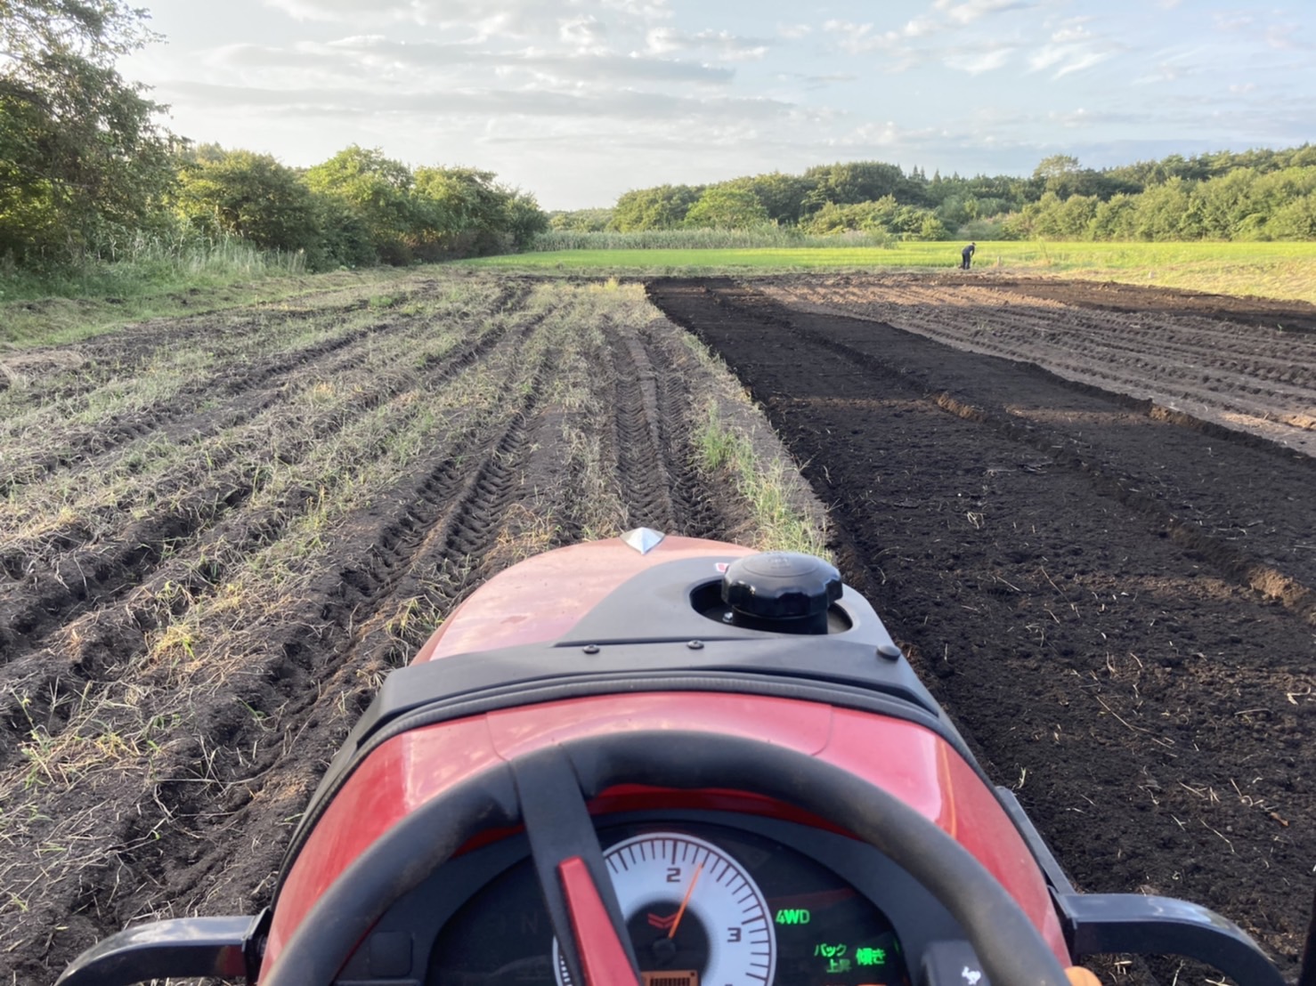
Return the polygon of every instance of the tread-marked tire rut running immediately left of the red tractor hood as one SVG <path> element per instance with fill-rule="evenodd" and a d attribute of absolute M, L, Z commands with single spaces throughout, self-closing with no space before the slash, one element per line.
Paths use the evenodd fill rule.
<path fill-rule="evenodd" d="M 536 325 L 504 333 L 504 348 L 524 346 Z M 466 364 L 480 355 L 488 354 L 468 350 Z M 250 668 L 245 682 L 232 686 L 237 701 L 211 702 L 199 735 L 159 764 L 159 777 L 172 780 L 157 785 L 153 810 L 117 818 L 114 840 L 121 848 L 113 865 L 84 874 L 72 897 L 54 895 L 42 902 L 72 929 L 71 935 L 89 941 L 142 916 L 139 898 L 116 899 L 120 878 L 129 873 L 133 883 L 142 873 L 157 873 L 161 887 L 151 907 L 166 908 L 159 914 L 183 914 L 191 912 L 199 895 L 224 898 L 228 883 L 209 880 L 216 873 L 234 865 L 243 872 L 243 880 L 251 872 L 276 872 L 280 839 L 291 832 L 288 818 L 304 806 L 322 769 L 321 757 L 342 740 L 368 703 L 372 677 L 396 660 L 390 653 L 386 627 L 370 615 L 386 611 L 388 602 L 408 592 L 425 569 L 461 569 L 468 555 L 488 550 L 497 518 L 515 500 L 513 471 L 525 452 L 526 421 L 542 397 L 549 359 L 545 356 L 532 372 L 520 406 L 501 423 L 468 430 L 457 446 L 436 450 L 387 494 L 391 510 L 380 514 L 370 509 L 345 525 L 353 535 L 336 548 L 345 564 L 316 581 L 307 594 L 309 609 L 286 614 L 280 623 L 284 628 L 275 627 L 262 648 L 265 667 Z M 437 388 L 451 376 L 450 367 L 436 367 L 422 385 Z M 482 458 L 470 468 L 470 456 L 478 452 Z M 468 588 L 454 586 L 454 592 Z M 313 646 L 308 646 L 308 628 Z M 324 715 L 324 694 L 333 690 L 350 701 L 342 702 L 337 714 Z M 279 741 L 271 741 L 270 727 L 261 718 L 253 719 L 251 710 L 262 713 L 262 718 L 263 710 L 278 716 Z M 215 744 L 209 749 L 207 740 Z M 265 749 L 258 752 L 262 743 Z M 242 749 L 250 752 L 243 755 Z M 203 764 L 209 780 L 200 782 L 196 772 Z M 278 789 L 268 798 L 267 782 Z M 218 811 L 209 790 L 216 784 L 225 791 Z M 253 833 L 242 840 L 249 856 L 238 864 L 232 841 L 225 841 L 236 830 Z M 247 883 L 241 895 L 262 893 L 261 881 Z M 205 890 L 197 891 L 197 886 Z M 59 897 L 63 899 L 55 899 Z"/>

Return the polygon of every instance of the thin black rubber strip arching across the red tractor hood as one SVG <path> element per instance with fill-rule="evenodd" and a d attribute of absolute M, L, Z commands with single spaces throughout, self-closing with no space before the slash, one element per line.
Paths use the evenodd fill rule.
<path fill-rule="evenodd" d="M 446 660 L 446 659 L 445 659 Z M 437 726 L 443 722 L 465 719 L 472 715 L 500 711 L 546 702 L 561 702 L 572 698 L 594 698 L 597 695 L 633 694 L 641 692 L 711 692 L 722 694 L 763 695 L 767 698 L 791 698 L 804 702 L 817 702 L 838 709 L 853 709 L 863 713 L 873 713 L 891 719 L 923 726 L 949 743 L 957 753 L 967 763 L 983 785 L 988 790 L 995 790 L 994 784 L 979 766 L 969 745 L 959 732 L 950 724 L 949 719 L 928 713 L 923 706 L 911 705 L 891 695 L 874 693 L 865 688 L 850 685 L 837 685 L 820 682 L 816 678 L 790 678 L 780 674 L 755 674 L 751 672 L 666 672 L 649 674 L 612 673 L 599 676 L 575 676 L 571 678 L 550 678 L 536 685 L 505 685 L 490 689 L 483 694 L 465 694 L 454 699 L 438 701 L 428 706 L 390 720 L 378 732 L 368 736 L 366 743 L 351 751 L 350 757 L 337 761 L 325 776 L 316 790 L 307 810 L 301 815 L 296 831 L 284 852 L 279 880 L 275 885 L 275 902 L 278 902 L 283 882 L 296 862 L 311 832 L 315 831 L 320 818 L 328 810 L 330 802 L 342 790 L 343 785 L 355 773 L 357 768 L 370 757 L 370 755 L 388 740 L 400 736 L 411 730 L 420 730 L 426 726 Z"/>

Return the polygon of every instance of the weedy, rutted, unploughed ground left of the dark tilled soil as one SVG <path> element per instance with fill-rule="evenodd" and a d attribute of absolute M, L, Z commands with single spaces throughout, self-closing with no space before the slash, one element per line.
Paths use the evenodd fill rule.
<path fill-rule="evenodd" d="M 3 982 L 134 920 L 257 912 L 383 674 L 499 569 L 640 525 L 751 539 L 696 464 L 709 402 L 788 463 L 615 284 L 415 276 L 9 369 Z"/>

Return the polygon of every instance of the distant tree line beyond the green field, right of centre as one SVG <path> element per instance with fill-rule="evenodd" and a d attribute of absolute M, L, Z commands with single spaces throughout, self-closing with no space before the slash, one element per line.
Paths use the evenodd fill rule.
<path fill-rule="evenodd" d="M 919 168 L 848 162 L 633 189 L 609 209 L 551 213 L 549 222 L 620 233 L 775 225 L 900 239 L 1316 239 L 1316 146 L 1103 170 L 1053 155 L 1026 177 L 928 177 Z"/>

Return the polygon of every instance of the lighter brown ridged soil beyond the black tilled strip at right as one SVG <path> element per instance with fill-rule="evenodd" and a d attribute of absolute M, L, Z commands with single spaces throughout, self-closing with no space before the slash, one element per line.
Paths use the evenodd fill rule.
<path fill-rule="evenodd" d="M 992 273 L 782 277 L 761 287 L 801 310 L 1037 363 L 1153 400 L 1163 413 L 1316 455 L 1313 305 Z"/>

